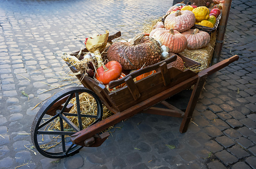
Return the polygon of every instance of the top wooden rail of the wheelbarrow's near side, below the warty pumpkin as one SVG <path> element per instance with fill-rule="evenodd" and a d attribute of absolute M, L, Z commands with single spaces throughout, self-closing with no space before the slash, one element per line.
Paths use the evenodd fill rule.
<path fill-rule="evenodd" d="M 168 64 L 168 63 L 170 63 L 170 62 L 175 61 L 176 59 L 177 59 L 177 55 L 175 54 L 175 55 L 173 55 L 173 56 L 171 56 L 171 57 L 169 57 L 169 58 L 167 58 L 167 59 L 165 59 L 165 60 L 162 60 L 162 61 L 160 61 L 160 62 L 158 62 L 158 63 L 155 63 L 155 64 L 150 65 L 150 66 L 146 66 L 146 67 L 141 68 L 141 69 L 139 69 L 139 70 L 137 70 L 137 71 L 134 71 L 134 72 L 132 72 L 132 73 L 126 75 L 125 77 L 123 77 L 123 78 L 121 78 L 121 79 L 119 79 L 119 80 L 110 81 L 110 82 L 109 82 L 109 88 L 113 88 L 113 87 L 115 87 L 115 86 L 118 86 L 118 85 L 124 83 L 124 82 L 125 82 L 125 79 L 128 78 L 129 76 L 131 76 L 132 78 L 135 78 L 135 77 L 137 77 L 138 75 L 141 75 L 141 74 L 144 74 L 144 73 L 146 73 L 146 72 L 149 72 L 149 71 L 152 71 L 152 70 L 157 69 L 163 62 L 166 62 L 166 64 Z"/>

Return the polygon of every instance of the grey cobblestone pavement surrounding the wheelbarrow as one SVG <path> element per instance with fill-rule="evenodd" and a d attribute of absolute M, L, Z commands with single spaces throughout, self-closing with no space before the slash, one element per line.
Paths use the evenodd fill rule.
<path fill-rule="evenodd" d="M 47 84 L 69 84 L 58 78 L 67 73 L 62 51 L 78 50 L 105 29 L 128 39 L 172 3 L 0 0 L 0 168 L 256 168 L 255 0 L 233 0 L 221 59 L 240 58 L 207 78 L 186 133 L 179 132 L 180 118 L 140 113 L 118 123 L 122 129 L 100 147 L 66 158 L 35 155 L 24 146 L 31 146 L 26 133 L 41 104 L 32 108 L 61 90 Z M 183 109 L 186 92 L 175 98 Z"/>

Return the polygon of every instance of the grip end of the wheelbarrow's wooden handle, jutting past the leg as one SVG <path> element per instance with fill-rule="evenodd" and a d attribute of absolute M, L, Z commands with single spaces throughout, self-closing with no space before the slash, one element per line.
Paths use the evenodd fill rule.
<path fill-rule="evenodd" d="M 211 74 L 215 73 L 216 71 L 226 67 L 228 64 L 238 60 L 238 58 L 239 58 L 238 55 L 234 55 L 234 56 L 232 56 L 230 58 L 222 60 L 222 61 L 220 61 L 220 62 L 218 62 L 218 63 L 216 63 L 216 64 L 214 64 L 214 65 L 212 65 L 212 66 L 210 66 L 210 67 L 208 67 L 208 68 L 206 68 L 204 70 L 202 70 L 202 71 L 200 71 L 198 73 L 198 75 L 201 75 L 201 74 L 204 74 L 204 73 L 208 73 L 208 75 L 211 75 Z"/>

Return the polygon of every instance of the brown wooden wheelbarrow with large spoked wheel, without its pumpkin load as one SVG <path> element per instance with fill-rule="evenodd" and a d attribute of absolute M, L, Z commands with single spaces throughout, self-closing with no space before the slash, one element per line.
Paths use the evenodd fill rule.
<path fill-rule="evenodd" d="M 74 53 L 74 55 L 76 54 L 77 52 Z M 187 67 L 197 64 L 187 57 L 181 57 Z M 186 132 L 206 77 L 237 60 L 238 55 L 222 60 L 199 73 L 190 69 L 182 71 L 168 66 L 176 58 L 177 55 L 173 55 L 166 60 L 130 73 L 119 80 L 111 81 L 109 83 L 110 88 L 126 83 L 126 86 L 115 92 L 109 92 L 103 84 L 91 77 L 77 74 L 76 77 L 84 87 L 70 87 L 59 91 L 50 97 L 36 114 L 31 128 L 33 144 L 44 156 L 50 158 L 66 157 L 78 152 L 83 146 L 100 146 L 109 136 L 107 131 L 101 133 L 103 130 L 138 112 L 181 117 L 183 120 L 180 132 Z M 73 66 L 70 66 L 70 69 L 77 72 Z M 133 78 L 152 70 L 157 70 L 157 72 L 134 82 Z M 185 112 L 164 101 L 192 85 L 194 88 Z M 88 93 L 95 99 L 97 104 L 95 113 L 86 114 L 80 110 L 79 95 L 81 93 Z M 72 98 L 76 100 L 77 113 L 69 112 L 74 106 L 70 103 Z M 157 103 L 163 104 L 168 109 L 154 107 Z M 102 104 L 114 113 L 103 120 Z M 77 117 L 77 124 L 73 123 L 67 116 Z M 84 127 L 81 120 L 83 117 L 91 118 L 94 122 L 90 126 Z M 54 120 L 59 122 L 59 129 L 49 129 L 49 125 Z M 68 124 L 71 129 L 65 129 L 63 123 Z M 43 143 L 42 137 L 47 139 L 49 143 Z"/>

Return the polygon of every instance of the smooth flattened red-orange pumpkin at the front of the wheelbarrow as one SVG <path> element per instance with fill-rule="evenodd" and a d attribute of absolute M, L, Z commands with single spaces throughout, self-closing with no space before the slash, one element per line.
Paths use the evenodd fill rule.
<path fill-rule="evenodd" d="M 122 65 L 118 61 L 109 61 L 107 64 L 97 68 L 96 79 L 103 84 L 117 79 L 122 72 Z"/>

